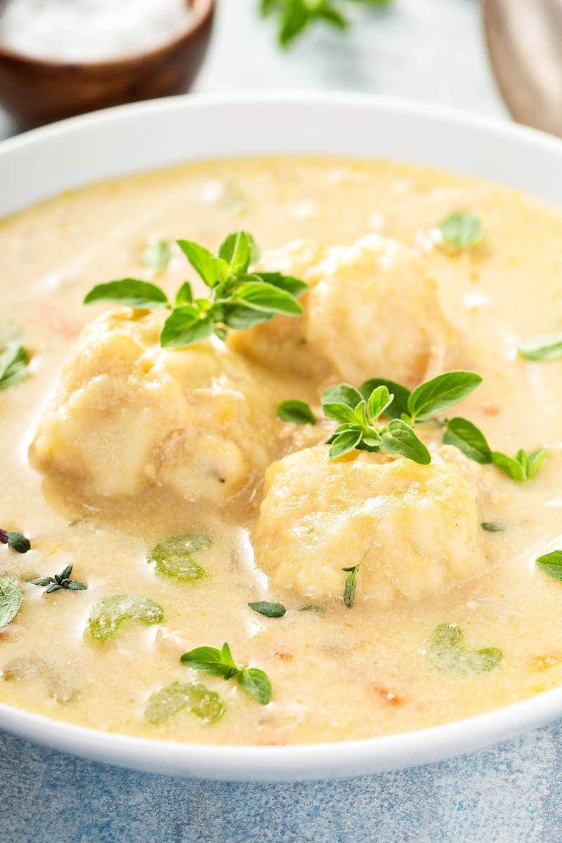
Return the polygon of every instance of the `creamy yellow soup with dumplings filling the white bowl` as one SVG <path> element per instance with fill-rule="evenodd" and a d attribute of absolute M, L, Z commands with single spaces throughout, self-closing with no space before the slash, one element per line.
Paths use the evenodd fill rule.
<path fill-rule="evenodd" d="M 254 284 L 308 285 L 301 315 L 163 347 L 170 309 L 83 304 L 122 278 L 206 297 L 175 241 L 216 253 L 238 229 L 261 248 Z M 182 164 L 4 220 L 2 344 L 29 368 L 0 393 L 0 701 L 293 744 L 559 685 L 559 559 L 536 561 L 562 549 L 562 362 L 527 344 L 562 325 L 561 239 L 528 196 L 344 158 Z M 411 412 L 406 390 L 459 370 L 481 383 Z M 402 389 L 357 433 L 377 380 L 322 395 L 370 379 Z M 224 642 L 233 663 L 193 654 Z"/>

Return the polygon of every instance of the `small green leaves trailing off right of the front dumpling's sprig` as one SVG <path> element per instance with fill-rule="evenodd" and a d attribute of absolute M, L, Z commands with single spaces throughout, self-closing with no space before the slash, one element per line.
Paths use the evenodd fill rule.
<path fill-rule="evenodd" d="M 537 474 L 548 451 L 548 448 L 539 448 L 533 454 L 527 454 L 525 448 L 520 448 L 515 457 L 509 457 L 502 451 L 492 451 L 484 433 L 472 421 L 460 417 L 447 420 L 443 443 L 454 445 L 477 463 L 494 464 L 519 483 L 531 480 Z"/>

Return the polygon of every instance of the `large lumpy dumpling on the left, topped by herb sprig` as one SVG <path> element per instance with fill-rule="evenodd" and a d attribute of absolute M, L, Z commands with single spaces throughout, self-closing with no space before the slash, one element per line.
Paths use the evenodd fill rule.
<path fill-rule="evenodd" d="M 153 483 L 210 502 L 263 473 L 275 402 L 219 341 L 162 348 L 162 320 L 127 309 L 85 328 L 31 445 L 36 468 L 86 497 Z"/>

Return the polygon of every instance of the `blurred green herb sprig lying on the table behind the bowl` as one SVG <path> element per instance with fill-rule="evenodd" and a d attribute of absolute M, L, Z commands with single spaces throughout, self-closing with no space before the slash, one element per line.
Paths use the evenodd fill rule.
<path fill-rule="evenodd" d="M 349 20 L 343 10 L 350 3 L 384 8 L 393 0 L 260 0 L 262 17 L 275 14 L 279 20 L 277 39 L 288 46 L 311 24 L 324 22 L 337 30 L 346 30 Z"/>

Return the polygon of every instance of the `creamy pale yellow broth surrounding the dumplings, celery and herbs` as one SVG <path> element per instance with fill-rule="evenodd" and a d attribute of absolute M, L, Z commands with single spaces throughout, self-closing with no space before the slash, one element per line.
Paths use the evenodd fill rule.
<path fill-rule="evenodd" d="M 479 214 L 485 239 L 452 254 L 439 246 L 436 226 L 459 209 Z M 30 467 L 29 444 L 63 361 L 96 315 L 83 307 L 83 295 L 110 278 L 152 277 L 140 262 L 148 241 L 185 237 L 215 248 L 239 227 L 263 249 L 295 238 L 352 244 L 377 232 L 420 252 L 450 330 L 441 368 L 468 368 L 484 378 L 458 414 L 508 454 L 551 448 L 536 478 L 525 484 L 492 466 L 465 467 L 469 479 L 472 469 L 484 472 L 474 475 L 477 485 L 485 478 L 479 518 L 506 528 L 484 532 L 484 572 L 430 597 L 386 603 L 361 598 L 359 580 L 352 609 L 329 599 L 322 614 L 302 612 L 299 607 L 313 601 L 268 583 L 254 561 L 263 472 L 218 507 L 185 501 L 158 485 L 108 501 L 86 494 L 72 476 L 45 471 L 43 477 Z M 0 632 L 0 700 L 112 732 L 292 744 L 423 728 L 559 685 L 562 584 L 534 561 L 562 546 L 562 362 L 525 362 L 517 346 L 560 330 L 561 238 L 559 212 L 519 193 L 426 169 L 340 158 L 184 164 L 65 194 L 5 220 L 3 314 L 24 328 L 32 362 L 23 384 L 0 393 L 0 526 L 27 534 L 32 550 L 20 556 L 0 548 L 0 574 L 24 593 L 19 614 Z M 174 253 L 158 276 L 170 295 L 189 274 L 186 266 Z M 266 396 L 273 443 L 267 461 L 321 441 L 321 432 L 277 421 L 275 408 L 286 398 L 318 405 L 329 368 L 311 365 L 295 373 L 282 357 L 275 369 L 262 367 L 247 343 L 232 345 Z M 438 445 L 436 431 L 424 435 Z M 201 531 L 212 540 L 207 577 L 180 583 L 147 564 L 147 553 L 167 536 Z M 71 562 L 73 576 L 88 590 L 45 594 L 26 583 Z M 342 573 L 342 588 L 344 578 Z M 89 611 L 116 593 L 156 600 L 163 622 L 124 624 L 109 641 L 93 642 L 85 635 Z M 280 601 L 286 615 L 268 619 L 250 611 L 248 602 L 258 599 Z M 427 641 L 443 622 L 458 624 L 468 647 L 499 647 L 500 666 L 468 676 L 436 669 Z M 233 682 L 192 674 L 179 663 L 193 647 L 225 641 L 238 662 L 269 675 L 269 706 Z M 206 725 L 183 711 L 160 725 L 145 722 L 148 696 L 176 680 L 217 690 L 224 717 Z"/>

